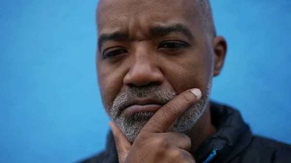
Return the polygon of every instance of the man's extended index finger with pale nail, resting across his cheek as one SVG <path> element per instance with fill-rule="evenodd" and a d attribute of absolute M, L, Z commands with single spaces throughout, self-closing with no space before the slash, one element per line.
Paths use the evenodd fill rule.
<path fill-rule="evenodd" d="M 201 98 L 200 89 L 189 89 L 163 105 L 148 120 L 140 134 L 168 132 L 180 115 Z"/>

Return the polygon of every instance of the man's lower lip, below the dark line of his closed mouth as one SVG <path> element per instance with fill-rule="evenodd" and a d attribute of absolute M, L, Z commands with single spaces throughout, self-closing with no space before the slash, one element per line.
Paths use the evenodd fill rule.
<path fill-rule="evenodd" d="M 155 112 L 159 110 L 162 105 L 159 104 L 146 104 L 146 105 L 131 105 L 124 110 L 125 114 L 131 114 L 135 112 L 145 112 L 145 111 L 152 111 Z"/>

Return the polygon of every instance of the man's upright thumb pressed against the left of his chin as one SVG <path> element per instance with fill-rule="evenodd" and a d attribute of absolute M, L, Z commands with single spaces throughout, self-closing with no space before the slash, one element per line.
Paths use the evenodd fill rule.
<path fill-rule="evenodd" d="M 124 136 L 124 134 L 120 131 L 120 129 L 113 121 L 109 122 L 109 126 L 114 136 L 119 163 L 124 163 L 132 146 L 132 143 Z"/>

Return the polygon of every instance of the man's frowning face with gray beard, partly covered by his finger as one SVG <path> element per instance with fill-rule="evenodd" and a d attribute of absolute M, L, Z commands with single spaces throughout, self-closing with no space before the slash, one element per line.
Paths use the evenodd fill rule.
<path fill-rule="evenodd" d="M 187 89 L 200 89 L 202 98 L 171 131 L 186 132 L 205 110 L 213 49 L 193 1 L 99 2 L 97 74 L 102 102 L 132 142 L 161 105 Z"/>

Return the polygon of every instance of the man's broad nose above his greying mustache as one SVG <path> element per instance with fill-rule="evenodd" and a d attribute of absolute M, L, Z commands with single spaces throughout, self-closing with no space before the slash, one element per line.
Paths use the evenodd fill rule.
<path fill-rule="evenodd" d="M 164 76 L 153 59 L 146 56 L 135 58 L 129 72 L 125 75 L 123 83 L 126 86 L 146 86 L 150 84 L 161 85 Z"/>

